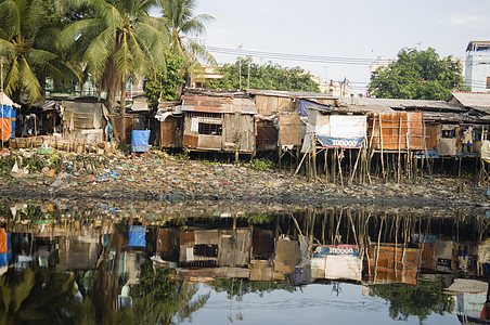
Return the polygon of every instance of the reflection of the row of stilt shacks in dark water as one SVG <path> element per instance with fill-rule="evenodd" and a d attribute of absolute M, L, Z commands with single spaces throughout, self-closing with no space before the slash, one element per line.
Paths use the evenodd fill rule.
<path fill-rule="evenodd" d="M 485 217 L 434 217 L 327 208 L 259 222 L 253 217 L 188 218 L 157 230 L 155 260 L 196 281 L 416 285 L 421 273 L 481 274 L 478 265 L 487 261 L 477 261 L 478 243 L 487 236 Z"/>

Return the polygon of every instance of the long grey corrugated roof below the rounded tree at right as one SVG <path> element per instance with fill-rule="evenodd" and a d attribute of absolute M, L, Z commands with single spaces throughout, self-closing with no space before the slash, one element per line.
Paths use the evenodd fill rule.
<path fill-rule="evenodd" d="M 397 99 L 372 99 L 372 98 L 341 98 L 341 102 L 351 105 L 360 106 L 378 106 L 389 107 L 394 109 L 427 109 L 427 110 L 450 110 L 450 112 L 466 112 L 467 109 L 456 104 L 451 104 L 444 101 L 426 101 L 426 100 L 397 100 Z"/>

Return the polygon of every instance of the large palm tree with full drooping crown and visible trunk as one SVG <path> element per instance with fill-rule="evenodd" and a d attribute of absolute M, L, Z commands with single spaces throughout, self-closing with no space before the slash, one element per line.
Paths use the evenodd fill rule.
<path fill-rule="evenodd" d="M 154 0 L 63 0 L 61 9 L 90 8 L 92 15 L 68 25 L 60 35 L 62 49 L 76 47 L 88 73 L 107 92 L 114 115 L 120 91 L 121 140 L 126 141 L 126 83 L 129 78 L 165 65 L 168 44 L 162 18 L 149 15 Z"/>

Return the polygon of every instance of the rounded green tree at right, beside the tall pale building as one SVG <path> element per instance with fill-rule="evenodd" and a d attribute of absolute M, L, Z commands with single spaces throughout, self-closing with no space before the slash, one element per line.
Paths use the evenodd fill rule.
<path fill-rule="evenodd" d="M 402 49 L 397 61 L 372 74 L 369 92 L 383 99 L 446 101 L 457 89 L 466 90 L 461 62 L 428 48 Z"/>

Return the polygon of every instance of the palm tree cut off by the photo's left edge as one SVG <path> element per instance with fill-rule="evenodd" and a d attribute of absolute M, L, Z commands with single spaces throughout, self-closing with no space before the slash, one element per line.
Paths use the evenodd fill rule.
<path fill-rule="evenodd" d="M 56 30 L 49 26 L 48 5 L 38 0 L 0 1 L 0 56 L 9 62 L 5 93 L 15 101 L 21 95 L 29 104 L 41 101 L 47 76 L 78 78 L 53 47 Z"/>

